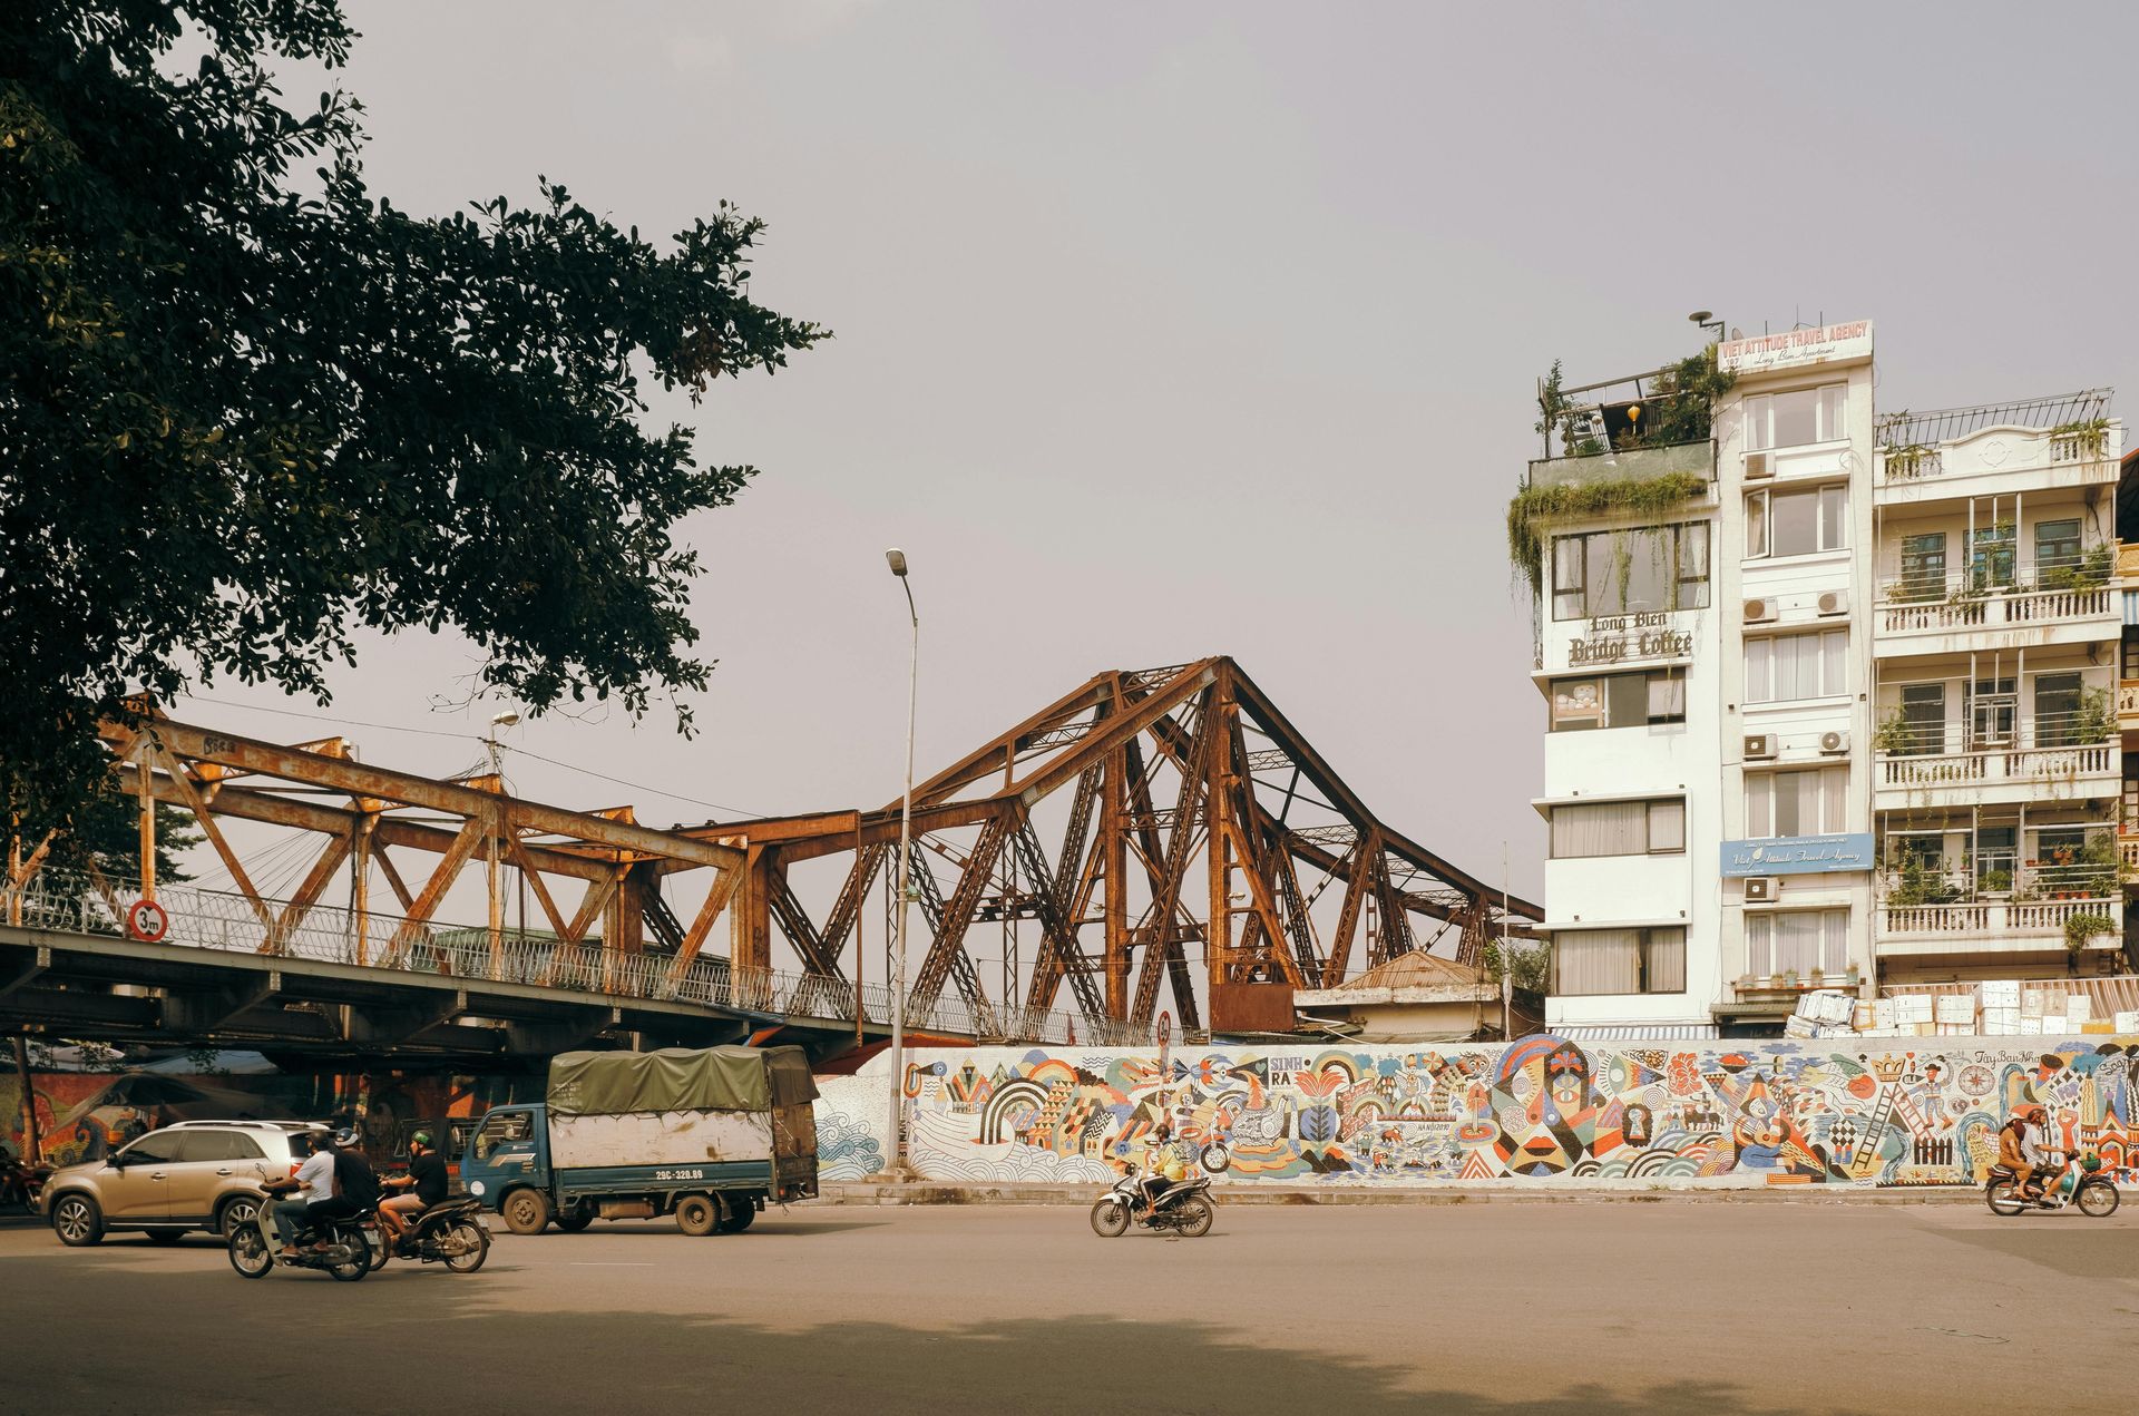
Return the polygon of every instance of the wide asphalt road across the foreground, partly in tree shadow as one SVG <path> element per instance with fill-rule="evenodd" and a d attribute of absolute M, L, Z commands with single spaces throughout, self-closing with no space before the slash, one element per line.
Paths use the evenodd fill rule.
<path fill-rule="evenodd" d="M 2115 1412 L 2139 1202 L 796 1209 L 246 1281 L 0 1226 L 0 1412 Z"/>

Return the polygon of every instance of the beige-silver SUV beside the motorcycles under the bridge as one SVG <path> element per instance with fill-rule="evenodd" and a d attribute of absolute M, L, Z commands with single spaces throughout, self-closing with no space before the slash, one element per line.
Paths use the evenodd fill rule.
<path fill-rule="evenodd" d="M 325 1127 L 289 1121 L 182 1121 L 126 1149 L 56 1170 L 39 1196 L 62 1245 L 94 1245 L 116 1230 L 173 1243 L 190 1230 L 229 1234 L 252 1217 L 263 1181 L 312 1153 Z"/>

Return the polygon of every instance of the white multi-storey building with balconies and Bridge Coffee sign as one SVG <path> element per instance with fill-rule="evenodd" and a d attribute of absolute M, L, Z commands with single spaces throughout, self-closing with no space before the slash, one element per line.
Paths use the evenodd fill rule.
<path fill-rule="evenodd" d="M 1525 481 L 1570 490 L 1536 522 L 1546 1022 L 2113 967 L 2107 396 L 1880 417 L 1869 321 L 1718 364 L 1705 438 L 1630 432 L 1658 374 L 1589 385 Z"/>

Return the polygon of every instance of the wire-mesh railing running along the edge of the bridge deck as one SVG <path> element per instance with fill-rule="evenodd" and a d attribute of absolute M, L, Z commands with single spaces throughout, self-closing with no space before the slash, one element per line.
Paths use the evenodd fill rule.
<path fill-rule="evenodd" d="M 471 982 L 505 982 L 633 1001 L 697 1003 L 789 1018 L 851 1022 L 856 1010 L 877 1027 L 892 1022 L 886 984 L 856 988 L 851 980 L 787 969 L 736 967 L 702 954 L 689 963 L 665 954 L 627 954 L 599 937 L 558 939 L 550 933 L 409 920 L 394 913 L 357 913 L 336 905 L 293 909 L 284 901 L 160 886 L 156 903 L 169 928 L 167 943 L 231 954 L 304 958 L 327 965 L 430 973 Z M 0 890 L 0 918 L 56 933 L 126 937 L 128 901 L 107 894 L 88 875 L 39 871 L 19 892 Z M 1016 1040 L 1093 1046 L 1149 1046 L 1151 1027 L 1112 1018 L 1012 1007 L 941 997 L 909 1003 L 909 1031 L 956 1033 L 975 1040 Z"/>

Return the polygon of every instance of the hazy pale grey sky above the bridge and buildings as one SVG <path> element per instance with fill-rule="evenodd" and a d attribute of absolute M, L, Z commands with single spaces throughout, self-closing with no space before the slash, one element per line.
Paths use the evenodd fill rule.
<path fill-rule="evenodd" d="M 548 175 L 646 233 L 729 199 L 770 222 L 757 299 L 836 334 L 657 404 L 761 468 L 684 526 L 719 669 L 689 742 L 665 712 L 509 729 L 515 789 L 565 806 L 896 798 L 901 545 L 922 774 L 1095 672 L 1230 655 L 1384 821 L 1489 881 L 1506 843 L 1540 898 L 1502 513 L 1553 359 L 1656 368 L 1707 308 L 1874 319 L 1882 409 L 2139 391 L 2133 6 L 349 13 L 376 193 L 443 214 Z M 509 706 L 462 704 L 473 665 L 374 640 L 329 708 L 184 712 L 443 774 Z"/>

